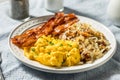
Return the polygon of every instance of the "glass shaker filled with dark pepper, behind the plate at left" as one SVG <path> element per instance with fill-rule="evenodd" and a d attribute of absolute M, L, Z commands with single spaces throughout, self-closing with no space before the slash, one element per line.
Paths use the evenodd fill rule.
<path fill-rule="evenodd" d="M 11 0 L 11 16 L 14 19 L 22 20 L 29 17 L 28 0 Z"/>

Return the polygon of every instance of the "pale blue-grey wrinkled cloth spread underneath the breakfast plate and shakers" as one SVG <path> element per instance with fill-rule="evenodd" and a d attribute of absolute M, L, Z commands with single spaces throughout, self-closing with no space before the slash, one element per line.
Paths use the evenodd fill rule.
<path fill-rule="evenodd" d="M 44 0 L 29 1 L 31 15 L 52 14 L 44 9 Z M 66 13 L 73 12 L 93 18 L 114 33 L 118 45 L 115 55 L 98 68 L 75 74 L 46 73 L 24 66 L 11 54 L 7 45 L 9 32 L 22 22 L 10 17 L 10 3 L 6 1 L 0 4 L 0 51 L 3 58 L 1 67 L 5 80 L 120 80 L 120 28 L 112 25 L 107 18 L 106 9 L 109 0 L 64 0 L 64 3 Z"/>

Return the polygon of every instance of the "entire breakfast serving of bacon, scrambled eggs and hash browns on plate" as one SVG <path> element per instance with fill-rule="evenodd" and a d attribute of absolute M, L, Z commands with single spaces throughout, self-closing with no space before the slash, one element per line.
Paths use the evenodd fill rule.
<path fill-rule="evenodd" d="M 43 25 L 26 30 L 11 41 L 29 59 L 54 67 L 92 63 L 110 50 L 104 34 L 79 21 L 73 13 L 56 13 Z"/>

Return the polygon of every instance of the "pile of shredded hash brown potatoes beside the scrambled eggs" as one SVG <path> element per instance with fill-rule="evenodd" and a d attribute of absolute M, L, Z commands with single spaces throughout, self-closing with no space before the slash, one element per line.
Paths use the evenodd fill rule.
<path fill-rule="evenodd" d="M 81 62 L 83 63 L 92 63 L 110 49 L 110 43 L 104 34 L 95 30 L 88 23 L 75 23 L 58 38 L 79 42 Z"/>

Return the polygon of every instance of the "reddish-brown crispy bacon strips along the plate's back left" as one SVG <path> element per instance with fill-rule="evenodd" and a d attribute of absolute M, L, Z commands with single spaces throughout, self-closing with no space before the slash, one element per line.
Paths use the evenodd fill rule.
<path fill-rule="evenodd" d="M 78 21 L 79 20 L 73 13 L 64 14 L 63 12 L 59 12 L 43 25 L 27 30 L 23 34 L 11 38 L 11 41 L 20 48 L 29 47 L 34 45 L 40 36 L 59 35 L 64 32 L 70 25 Z"/>

